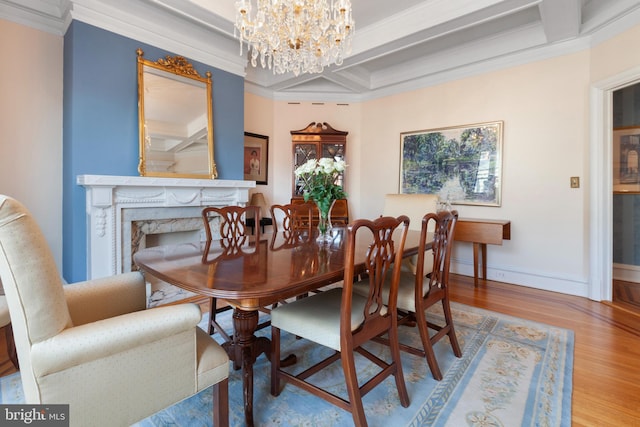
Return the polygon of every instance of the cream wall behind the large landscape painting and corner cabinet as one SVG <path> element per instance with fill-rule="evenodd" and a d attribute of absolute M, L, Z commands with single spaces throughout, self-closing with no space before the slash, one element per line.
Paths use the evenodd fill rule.
<path fill-rule="evenodd" d="M 349 106 L 274 102 L 269 202 L 291 194 L 291 135 L 313 121 L 349 132 L 347 191 L 351 217 L 376 217 L 397 193 L 400 133 L 504 121 L 501 207 L 456 206 L 461 216 L 512 221 L 512 240 L 489 248 L 489 277 L 586 296 L 588 209 L 588 51 Z M 248 97 L 246 124 L 264 111 Z M 453 270 L 472 275 L 469 244 Z"/>

